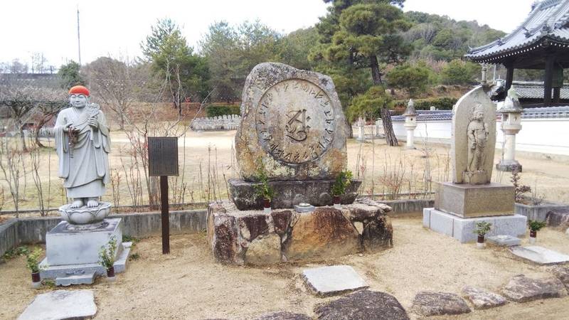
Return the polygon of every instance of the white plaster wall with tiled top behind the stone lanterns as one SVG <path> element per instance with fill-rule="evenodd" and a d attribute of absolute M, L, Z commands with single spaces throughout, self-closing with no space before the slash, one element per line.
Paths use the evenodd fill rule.
<path fill-rule="evenodd" d="M 403 122 L 394 122 L 393 130 L 398 139 L 407 139 Z M 451 121 L 418 122 L 415 142 L 450 144 Z M 496 124 L 496 148 L 501 149 L 504 134 L 500 122 Z M 538 152 L 569 156 L 569 118 L 522 119 L 521 131 L 516 134 L 516 151 Z"/>

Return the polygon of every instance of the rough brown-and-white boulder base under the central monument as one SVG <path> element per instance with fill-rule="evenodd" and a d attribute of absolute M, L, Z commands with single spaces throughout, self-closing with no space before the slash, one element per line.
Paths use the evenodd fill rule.
<path fill-rule="evenodd" d="M 208 243 L 217 262 L 236 265 L 321 260 L 385 250 L 393 245 L 393 228 L 385 214 L 390 208 L 371 204 L 264 213 L 238 210 L 228 202 L 210 203 Z"/>

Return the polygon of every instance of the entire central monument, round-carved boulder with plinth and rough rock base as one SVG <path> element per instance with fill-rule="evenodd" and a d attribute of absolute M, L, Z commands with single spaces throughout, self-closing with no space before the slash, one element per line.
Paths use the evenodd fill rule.
<path fill-rule="evenodd" d="M 243 178 L 228 181 L 233 203 L 208 206 L 216 261 L 269 265 L 393 245 L 388 206 L 350 204 L 361 181 L 352 181 L 342 196 L 347 206 L 331 207 L 331 186 L 346 170 L 348 132 L 331 78 L 261 63 L 245 81 L 241 116 L 235 151 Z M 261 210 L 254 192 L 258 166 L 275 191 L 272 210 Z"/>

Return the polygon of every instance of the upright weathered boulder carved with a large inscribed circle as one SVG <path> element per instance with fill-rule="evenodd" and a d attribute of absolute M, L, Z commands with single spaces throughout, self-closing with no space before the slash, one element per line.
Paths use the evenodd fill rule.
<path fill-rule="evenodd" d="M 329 76 L 260 63 L 242 101 L 235 152 L 245 181 L 259 161 L 274 181 L 334 179 L 346 169 L 348 127 Z"/>

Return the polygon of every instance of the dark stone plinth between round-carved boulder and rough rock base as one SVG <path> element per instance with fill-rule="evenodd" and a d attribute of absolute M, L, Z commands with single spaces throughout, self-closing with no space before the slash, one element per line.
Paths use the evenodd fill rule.
<path fill-rule="evenodd" d="M 229 179 L 229 191 L 233 202 L 238 210 L 260 210 L 262 199 L 255 196 L 257 183 L 243 181 L 242 179 Z M 269 181 L 269 185 L 275 190 L 275 198 L 272 199 L 273 209 L 293 208 L 301 202 L 310 203 L 312 206 L 331 206 L 331 188 L 334 180 L 302 180 L 302 181 Z M 342 204 L 353 203 L 356 200 L 360 180 L 352 180 L 346 194 L 341 197 Z"/>

